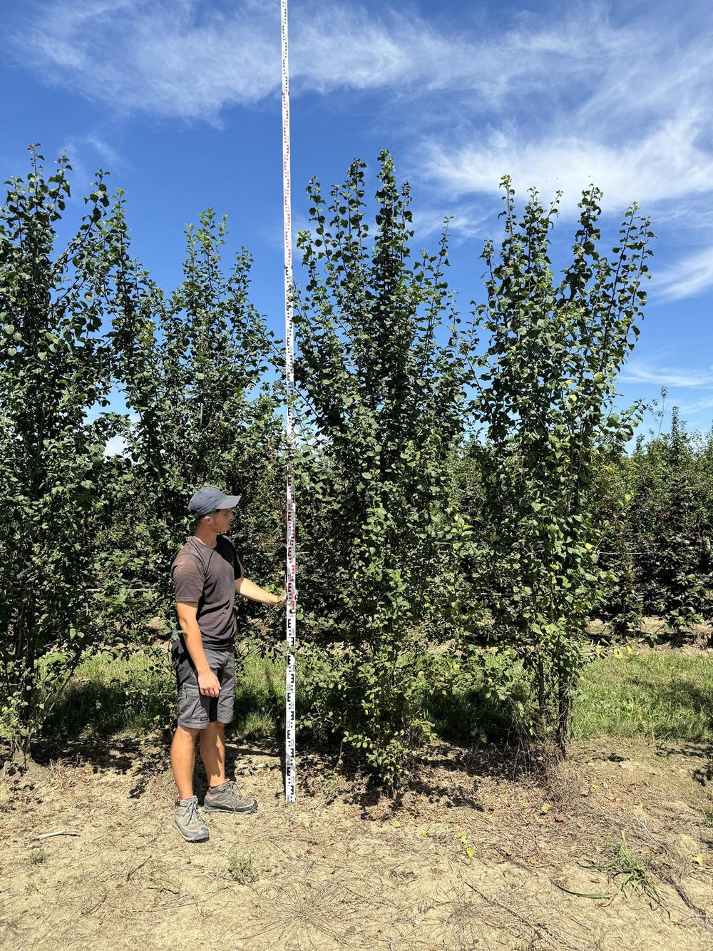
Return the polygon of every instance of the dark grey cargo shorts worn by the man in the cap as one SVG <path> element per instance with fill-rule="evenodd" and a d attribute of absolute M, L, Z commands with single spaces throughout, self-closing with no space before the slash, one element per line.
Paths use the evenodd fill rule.
<path fill-rule="evenodd" d="M 230 723 L 235 699 L 235 650 L 203 645 L 210 669 L 221 683 L 217 697 L 205 697 L 198 688 L 198 673 L 185 649 L 183 634 L 171 639 L 171 664 L 176 671 L 178 725 L 204 729 L 209 724 Z"/>

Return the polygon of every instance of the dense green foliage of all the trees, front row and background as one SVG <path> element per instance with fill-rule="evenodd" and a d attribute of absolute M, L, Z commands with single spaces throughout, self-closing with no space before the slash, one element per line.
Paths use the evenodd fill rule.
<path fill-rule="evenodd" d="M 224 270 L 226 226 L 205 212 L 164 293 L 101 175 L 57 251 L 68 165 L 46 178 L 40 161 L 0 213 L 0 677 L 19 750 L 80 657 L 147 649 L 173 623 L 196 487 L 240 493 L 248 573 L 283 571 L 279 341 L 248 253 Z M 641 408 L 614 410 L 648 223 L 630 209 L 607 256 L 589 189 L 558 278 L 556 203 L 530 193 L 518 211 L 504 180 L 504 240 L 462 319 L 446 229 L 414 252 L 391 156 L 375 203 L 364 172 L 329 197 L 310 183 L 299 235 L 299 723 L 395 786 L 470 678 L 511 704 L 530 751 L 562 755 L 589 620 L 624 637 L 643 614 L 674 631 L 711 616 L 713 441 L 674 415 L 627 455 Z M 241 635 L 274 650 L 278 615 L 240 610 Z"/>

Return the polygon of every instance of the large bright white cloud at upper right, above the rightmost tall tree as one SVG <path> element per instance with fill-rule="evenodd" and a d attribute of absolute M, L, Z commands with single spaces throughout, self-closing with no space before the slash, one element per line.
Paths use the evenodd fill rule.
<path fill-rule="evenodd" d="M 561 188 L 568 216 L 593 182 L 607 210 L 637 201 L 703 223 L 700 210 L 680 204 L 713 188 L 713 24 L 708 7 L 693 7 L 697 24 L 665 5 L 619 26 L 600 18 L 584 70 L 543 55 L 545 89 L 530 88 L 519 104 L 511 97 L 507 121 L 493 114 L 486 134 L 430 136 L 427 173 L 455 196 L 492 194 L 504 173 L 545 197 Z M 588 13 L 597 9 L 574 8 L 570 27 L 579 22 L 588 36 Z"/>

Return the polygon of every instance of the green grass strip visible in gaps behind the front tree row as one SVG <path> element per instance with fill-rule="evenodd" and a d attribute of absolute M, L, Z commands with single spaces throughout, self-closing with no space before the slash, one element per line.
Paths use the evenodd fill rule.
<path fill-rule="evenodd" d="M 301 658 L 299 658 L 301 662 Z M 251 652 L 239 660 L 232 735 L 279 738 L 284 726 L 284 659 Z M 298 669 L 298 725 L 300 708 Z M 98 654 L 79 667 L 48 718 L 48 734 L 147 735 L 175 726 L 176 687 L 166 650 L 128 658 Z M 436 734 L 453 743 L 500 740 L 511 708 L 486 695 L 481 670 L 467 689 L 425 701 Z M 584 670 L 572 717 L 576 738 L 645 737 L 713 741 L 713 657 L 666 650 L 609 655 Z"/>

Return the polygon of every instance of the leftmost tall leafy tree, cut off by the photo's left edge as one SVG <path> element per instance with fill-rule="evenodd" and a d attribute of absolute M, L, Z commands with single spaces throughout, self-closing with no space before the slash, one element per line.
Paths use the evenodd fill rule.
<path fill-rule="evenodd" d="M 105 504 L 115 247 L 98 176 L 87 213 L 57 252 L 66 158 L 46 177 L 30 148 L 0 209 L 0 703 L 16 754 L 98 631 L 87 613 L 95 567 L 87 520 Z M 94 417 L 94 418 L 92 418 Z"/>

